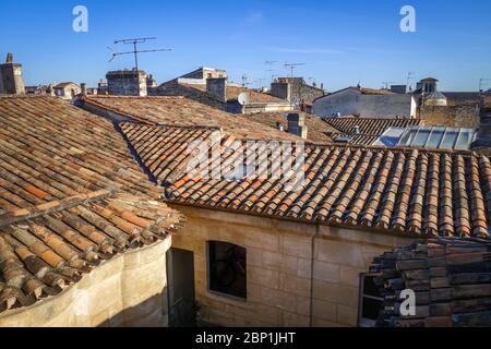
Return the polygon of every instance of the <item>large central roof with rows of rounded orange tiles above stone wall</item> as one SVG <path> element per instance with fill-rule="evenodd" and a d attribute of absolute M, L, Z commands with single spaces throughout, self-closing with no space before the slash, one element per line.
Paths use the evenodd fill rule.
<path fill-rule="evenodd" d="M 187 140 L 211 130 L 134 123 L 122 130 L 175 203 L 411 236 L 490 233 L 491 163 L 469 152 L 306 145 L 306 179 L 299 191 L 286 191 L 284 179 L 271 177 L 187 176 Z M 226 154 L 229 141 L 221 144 Z"/>

